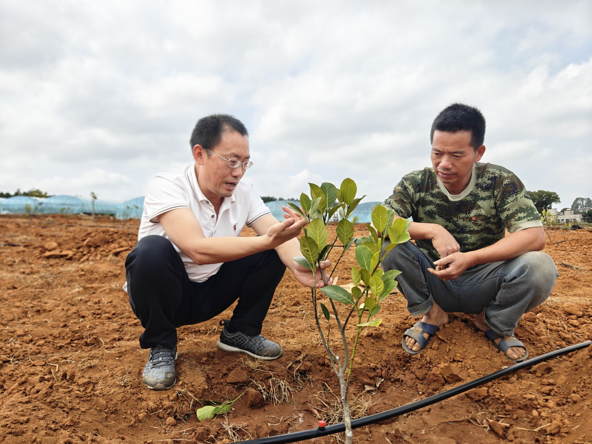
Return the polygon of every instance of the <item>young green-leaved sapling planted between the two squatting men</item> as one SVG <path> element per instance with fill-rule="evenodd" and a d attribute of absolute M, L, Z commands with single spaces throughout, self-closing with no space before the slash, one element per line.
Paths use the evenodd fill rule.
<path fill-rule="evenodd" d="M 318 333 L 321 336 L 324 348 L 329 356 L 330 366 L 339 378 L 340 398 L 343 407 L 343 422 L 345 423 L 345 442 L 352 442 L 351 412 L 348 403 L 349 379 L 353 370 L 353 358 L 358 347 L 360 333 L 366 327 L 377 327 L 381 319 L 375 318 L 380 311 L 380 303 L 391 294 L 397 286 L 395 277 L 400 274 L 397 270 L 383 272 L 380 265 L 384 258 L 397 244 L 407 242 L 410 239 L 410 221 L 396 218 L 393 210 L 387 210 L 378 205 L 372 210 L 372 224 L 367 224 L 369 236 L 356 239 L 353 237 L 353 224 L 348 220 L 353 210 L 365 197 L 356 198 L 357 186 L 352 179 L 345 179 L 339 189 L 333 184 L 325 182 L 321 186 L 310 185 L 310 197 L 306 194 L 300 196 L 300 208 L 288 203 L 296 213 L 307 218 L 308 227 L 304 229 L 304 236 L 300 238 L 300 251 L 302 257 L 294 258 L 296 262 L 309 269 L 316 279 L 316 270 L 320 263 L 327 259 L 334 246 L 342 248 L 333 271 L 323 276 L 324 287 L 321 292 L 329 298 L 332 314 L 323 303 L 317 303 L 316 281 L 311 288 L 311 297 L 314 307 L 314 318 Z M 326 224 L 334 214 L 338 215 L 337 237 L 330 242 L 328 239 Z M 385 244 L 384 239 L 390 237 L 390 243 Z M 336 244 L 339 240 L 340 244 Z M 338 285 L 328 285 L 329 278 L 339 265 L 343 255 L 355 245 L 355 257 L 359 266 L 352 266 L 351 276 L 353 287 L 350 291 Z M 363 284 L 363 285 L 362 285 Z M 336 303 L 346 306 L 346 316 L 339 316 L 339 308 Z M 326 321 L 321 325 L 318 308 L 323 313 Z M 355 316 L 355 339 L 353 344 L 348 343 L 346 326 L 350 317 Z M 332 324 L 334 326 L 332 327 Z M 330 333 L 337 329 L 340 337 L 331 342 Z M 337 346 L 336 346 L 337 343 Z M 343 353 L 341 355 L 340 353 Z"/>

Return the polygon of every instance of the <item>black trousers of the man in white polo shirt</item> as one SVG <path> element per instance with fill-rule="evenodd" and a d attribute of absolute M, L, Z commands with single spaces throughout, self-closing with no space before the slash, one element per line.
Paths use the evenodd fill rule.
<path fill-rule="evenodd" d="M 230 318 L 232 331 L 260 334 L 284 272 L 278 253 L 266 250 L 226 262 L 206 281 L 193 282 L 168 239 L 143 237 L 126 259 L 131 309 L 144 327 L 140 347 L 173 348 L 176 327 L 207 321 L 237 299 Z"/>

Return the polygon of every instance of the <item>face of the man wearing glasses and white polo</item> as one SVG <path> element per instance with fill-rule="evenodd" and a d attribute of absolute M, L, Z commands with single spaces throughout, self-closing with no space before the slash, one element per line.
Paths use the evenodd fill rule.
<path fill-rule="evenodd" d="M 224 131 L 220 143 L 211 150 L 215 154 L 196 145 L 193 153 L 195 162 L 200 165 L 198 182 L 201 191 L 215 201 L 216 196 L 231 197 L 245 172 L 242 165 L 231 168 L 226 160 L 218 156 L 247 162 L 250 157 L 249 139 L 237 131 Z"/>

